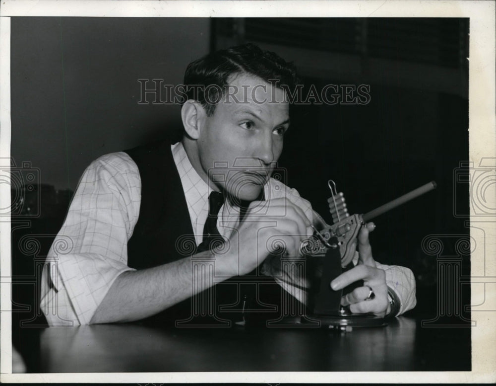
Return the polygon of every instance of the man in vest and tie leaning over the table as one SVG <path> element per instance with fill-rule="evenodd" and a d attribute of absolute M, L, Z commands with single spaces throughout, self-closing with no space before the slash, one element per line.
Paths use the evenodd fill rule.
<path fill-rule="evenodd" d="M 192 296 L 257 268 L 305 303 L 309 283 L 281 269 L 281 245 L 272 242 L 284 239 L 285 255 L 300 256 L 321 222 L 298 192 L 270 178 L 290 124 L 282 85 L 296 82 L 293 66 L 250 44 L 192 62 L 183 140 L 107 154 L 84 172 L 43 272 L 49 324 L 159 313 L 178 320 L 191 311 Z M 224 202 L 214 202 L 215 192 Z M 373 260 L 373 227 L 359 234 L 358 265 L 332 288 L 364 280 L 343 305 L 354 313 L 404 312 L 416 302 L 413 275 Z M 60 251 L 64 240 L 70 245 Z M 198 261 L 211 269 L 207 280 L 195 276 Z"/>

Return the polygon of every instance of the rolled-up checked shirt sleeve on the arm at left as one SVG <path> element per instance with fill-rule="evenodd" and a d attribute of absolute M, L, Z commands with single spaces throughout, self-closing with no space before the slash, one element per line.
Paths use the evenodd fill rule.
<path fill-rule="evenodd" d="M 139 216 L 141 180 L 126 153 L 106 154 L 84 171 L 47 255 L 41 308 L 50 325 L 88 324 L 127 266 Z"/>

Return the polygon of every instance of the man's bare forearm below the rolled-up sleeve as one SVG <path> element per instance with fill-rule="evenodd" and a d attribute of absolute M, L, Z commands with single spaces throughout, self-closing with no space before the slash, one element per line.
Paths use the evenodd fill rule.
<path fill-rule="evenodd" d="M 215 257 L 202 252 L 195 257 Z M 215 276 L 227 279 L 227 268 L 219 258 Z M 189 257 L 154 268 L 127 271 L 117 277 L 90 323 L 127 322 L 143 319 L 174 306 L 208 288 L 209 280 L 197 280 L 193 286 L 192 260 Z M 193 289 L 195 293 L 193 293 Z"/>

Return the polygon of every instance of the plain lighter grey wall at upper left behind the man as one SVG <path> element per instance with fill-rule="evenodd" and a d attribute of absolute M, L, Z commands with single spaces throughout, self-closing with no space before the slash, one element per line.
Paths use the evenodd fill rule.
<path fill-rule="evenodd" d="M 138 105 L 138 79 L 181 83 L 208 53 L 205 18 L 12 18 L 12 156 L 74 190 L 96 157 L 181 123 L 180 107 Z"/>

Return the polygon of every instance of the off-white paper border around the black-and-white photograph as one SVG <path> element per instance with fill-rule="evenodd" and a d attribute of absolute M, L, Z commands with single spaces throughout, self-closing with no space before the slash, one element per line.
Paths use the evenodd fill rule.
<path fill-rule="evenodd" d="M 91 3 L 88 6 L 88 3 Z M 469 17 L 469 146 L 470 160 L 496 158 L 495 1 L 11 1 L 0 10 L 0 158 L 10 157 L 10 17 Z M 496 200 L 496 197 L 493 197 Z M 490 197 L 491 199 L 491 197 Z M 10 201 L 10 190 L 0 184 L 0 200 Z M 471 206 L 471 213 L 473 208 Z M 494 220 L 494 221 L 493 221 Z M 496 256 L 496 219 L 486 223 L 488 256 Z M 472 233 L 472 232 L 471 232 Z M 477 234 L 471 234 L 477 242 Z M 493 240 L 492 242 L 490 240 Z M 10 223 L 0 222 L 1 309 L 10 302 Z M 476 251 L 477 254 L 477 251 Z M 473 255 L 474 259 L 478 256 Z M 485 286 L 489 309 L 496 309 L 496 264 L 488 262 L 492 281 Z M 480 296 L 472 292 L 472 301 Z M 492 295 L 491 295 L 492 294 Z M 1 312 L 1 382 L 10 383 L 329 383 L 329 382 L 460 382 L 496 381 L 495 311 L 472 315 L 471 372 L 251 372 L 251 373 L 85 373 L 11 374 L 11 318 Z"/>

